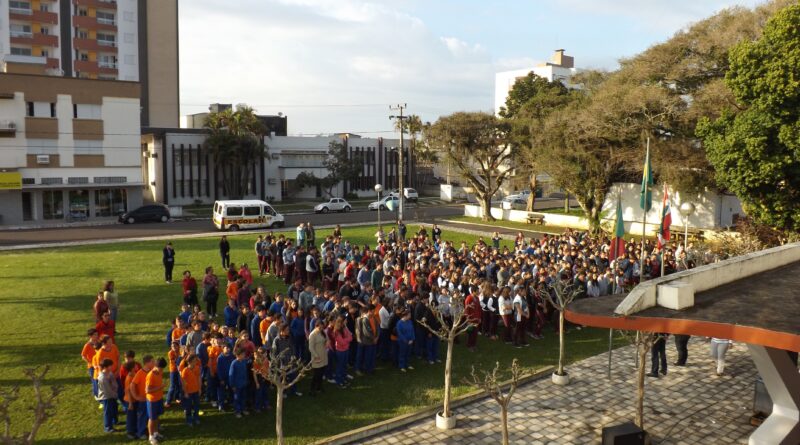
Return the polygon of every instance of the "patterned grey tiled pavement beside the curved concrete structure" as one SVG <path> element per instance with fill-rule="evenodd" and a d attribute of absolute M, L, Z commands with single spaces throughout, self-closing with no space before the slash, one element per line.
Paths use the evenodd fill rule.
<path fill-rule="evenodd" d="M 672 338 L 668 361 L 675 361 Z M 511 401 L 509 432 L 516 444 L 598 444 L 603 426 L 633 420 L 636 397 L 634 350 L 614 351 L 612 378 L 608 355 L 600 354 L 569 366 L 572 382 L 559 387 L 542 379 L 518 388 Z M 693 337 L 689 364 L 670 366 L 666 377 L 647 378 L 645 428 L 653 443 L 744 444 L 754 427 L 749 423 L 755 365 L 744 344 L 728 351 L 726 375 L 713 375 L 708 343 Z M 648 370 L 649 370 L 648 355 Z M 426 419 L 364 444 L 496 444 L 500 443 L 499 407 L 483 399 L 455 410 L 455 430 L 436 429 Z"/>

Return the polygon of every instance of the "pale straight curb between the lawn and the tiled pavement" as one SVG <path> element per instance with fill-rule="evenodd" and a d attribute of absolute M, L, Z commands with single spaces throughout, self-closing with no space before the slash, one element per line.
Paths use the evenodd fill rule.
<path fill-rule="evenodd" d="M 553 366 L 548 366 L 539 370 L 534 371 L 531 374 L 528 374 L 522 377 L 519 380 L 517 386 L 526 385 L 528 383 L 534 382 L 536 380 L 540 380 L 548 375 L 550 375 L 555 369 Z M 504 389 L 511 384 L 510 381 L 505 381 L 500 384 L 500 388 Z M 481 399 L 488 399 L 489 396 L 486 393 L 479 389 L 472 391 L 468 394 L 464 394 L 463 396 L 456 397 L 450 402 L 450 407 L 455 409 L 467 405 L 469 403 L 481 400 Z M 513 401 L 512 401 L 513 403 Z M 368 425 L 362 428 L 357 428 L 354 430 L 350 430 L 344 432 L 342 434 L 337 434 L 335 436 L 331 436 L 322 440 L 318 440 L 313 442 L 313 445 L 345 445 L 354 443 L 356 441 L 360 441 L 363 439 L 367 439 L 369 437 L 377 436 L 380 433 L 385 433 L 387 431 L 391 431 L 422 419 L 428 418 L 431 422 L 433 422 L 433 417 L 442 409 L 441 405 L 434 405 L 429 406 L 427 408 L 423 408 L 419 411 L 403 414 L 401 416 L 392 417 L 391 419 L 384 420 L 382 422 L 378 422 L 372 425 Z M 456 413 L 454 412 L 454 415 Z"/>

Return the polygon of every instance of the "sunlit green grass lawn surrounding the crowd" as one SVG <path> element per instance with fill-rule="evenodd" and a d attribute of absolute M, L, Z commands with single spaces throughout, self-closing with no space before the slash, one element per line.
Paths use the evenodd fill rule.
<path fill-rule="evenodd" d="M 358 244 L 374 244 L 375 227 L 345 228 L 345 236 Z M 409 230 L 415 230 L 409 227 Z M 326 235 L 318 233 L 318 239 Z M 449 235 L 449 236 L 447 236 Z M 235 262 L 255 263 L 252 242 L 256 233 L 229 236 L 231 258 Z M 446 234 L 454 241 L 473 242 L 476 237 Z M 175 276 L 189 269 L 202 276 L 207 265 L 219 265 L 216 238 L 173 240 L 176 250 Z M 121 308 L 117 337 L 120 351 L 133 349 L 137 357 L 145 354 L 165 356 L 165 334 L 170 319 L 179 312 L 180 284 L 163 281 L 161 249 L 163 242 L 116 243 L 74 248 L 4 252 L 0 260 L 0 327 L 4 341 L 0 348 L 0 387 L 22 384 L 22 400 L 16 406 L 12 429 L 29 428 L 32 391 L 23 369 L 49 364 L 48 383 L 63 385 L 57 402 L 57 415 L 41 430 L 38 443 L 93 444 L 121 443 L 124 432 L 108 435 L 102 431 L 101 411 L 91 397 L 91 386 L 80 359 L 85 331 L 92 327 L 92 304 L 105 279 L 117 283 Z M 219 272 L 219 271 L 218 271 Z M 218 275 L 222 275 L 218 273 Z M 25 280 L 31 280 L 28 286 Z M 258 280 L 258 279 L 257 279 Z M 275 279 L 263 282 L 270 291 L 285 291 Z M 24 285 L 24 286 L 23 286 Z M 567 336 L 570 360 L 579 360 L 605 350 L 608 331 L 583 329 Z M 510 364 L 516 357 L 525 367 L 535 369 L 557 360 L 557 336 L 548 329 L 547 338 L 532 342 L 525 349 L 513 349 L 485 338 L 478 341 L 478 353 L 463 345 L 455 353 L 454 394 L 468 392 L 461 383 L 470 366 L 488 368 L 495 361 Z M 442 351 L 442 355 L 444 351 Z M 413 361 L 415 371 L 403 374 L 380 365 L 372 377 L 357 377 L 349 390 L 326 384 L 326 392 L 316 398 L 304 395 L 286 404 L 284 432 L 288 443 L 304 444 L 353 428 L 438 404 L 442 396 L 443 365 Z M 310 379 L 300 383 L 307 392 Z M 568 388 L 566 390 L 569 390 Z M 274 396 L 274 394 L 271 394 Z M 274 406 L 274 400 L 272 401 Z M 205 404 L 202 424 L 189 428 L 183 412 L 168 410 L 162 432 L 167 443 L 212 444 L 231 442 L 255 444 L 274 442 L 274 412 L 239 420 L 231 413 L 212 411 Z M 122 417 L 124 419 L 124 417 Z"/>

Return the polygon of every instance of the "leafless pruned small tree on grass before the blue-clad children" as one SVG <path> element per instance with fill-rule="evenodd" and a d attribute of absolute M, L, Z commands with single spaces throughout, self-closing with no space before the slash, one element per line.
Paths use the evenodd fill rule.
<path fill-rule="evenodd" d="M 301 358 L 295 357 L 290 350 L 284 350 L 272 359 L 262 349 L 255 354 L 253 371 L 268 382 L 275 385 L 275 436 L 278 445 L 283 445 L 283 393 L 287 388 L 296 385 L 308 371 L 311 363 L 305 363 Z M 257 384 L 257 382 L 256 382 Z"/>

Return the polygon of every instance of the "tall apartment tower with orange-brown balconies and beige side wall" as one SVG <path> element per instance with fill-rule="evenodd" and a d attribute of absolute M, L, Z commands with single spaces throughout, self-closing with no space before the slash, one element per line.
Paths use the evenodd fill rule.
<path fill-rule="evenodd" d="M 0 0 L 0 58 L 139 82 L 142 125 L 178 126 L 178 0 Z"/>

